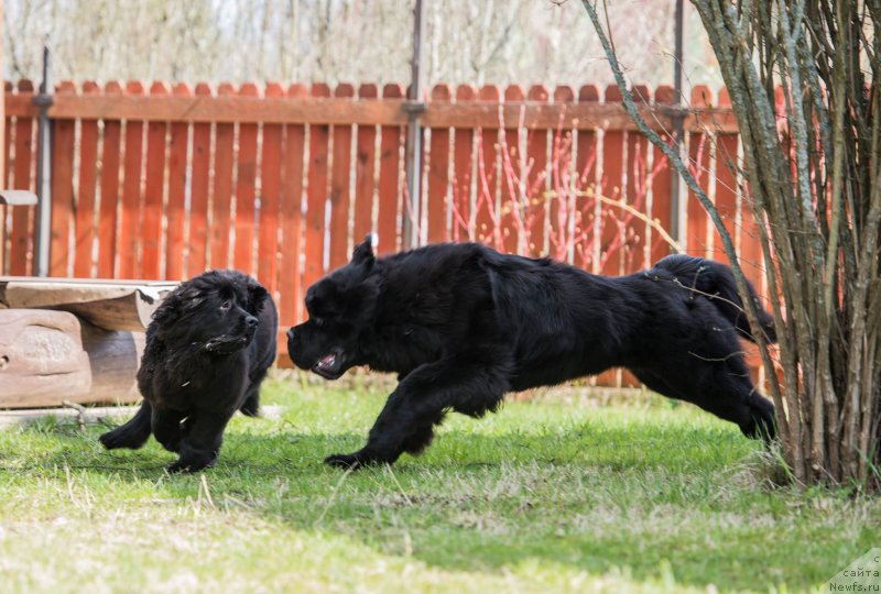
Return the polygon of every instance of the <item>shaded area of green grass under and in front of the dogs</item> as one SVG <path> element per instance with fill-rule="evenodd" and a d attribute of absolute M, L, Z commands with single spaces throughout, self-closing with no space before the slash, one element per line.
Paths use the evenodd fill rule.
<path fill-rule="evenodd" d="M 448 570 L 502 572 L 537 561 L 600 574 L 627 568 L 635 580 L 672 571 L 679 584 L 744 590 L 825 579 L 828 562 L 809 540 L 765 542 L 775 522 L 787 521 L 786 504 L 744 482 L 743 461 L 761 448 L 736 429 L 445 430 L 418 459 L 344 473 L 322 460 L 361 447 L 363 436 L 267 428 L 228 432 L 220 461 L 205 473 L 219 509 Z M 105 452 L 101 430 L 23 430 L 40 455 L 6 469 L 58 481 L 69 470 L 105 505 L 127 501 L 126 485 L 171 502 L 199 496 L 198 476 L 164 472 L 174 454 L 152 440 L 139 451 Z M 4 458 L 0 450 L 0 465 Z M 783 519 L 774 519 L 781 509 Z"/>

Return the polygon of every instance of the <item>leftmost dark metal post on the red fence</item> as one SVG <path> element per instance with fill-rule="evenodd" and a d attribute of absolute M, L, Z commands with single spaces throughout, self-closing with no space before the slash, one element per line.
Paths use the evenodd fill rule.
<path fill-rule="evenodd" d="M 34 105 L 40 108 L 36 144 L 36 195 L 39 201 L 34 239 L 36 276 L 48 276 L 48 246 L 52 238 L 52 124 L 48 120 L 48 108 L 54 99 L 50 59 L 51 53 L 48 44 L 46 44 L 43 45 L 43 81 L 40 84 L 40 92 L 34 97 Z"/>

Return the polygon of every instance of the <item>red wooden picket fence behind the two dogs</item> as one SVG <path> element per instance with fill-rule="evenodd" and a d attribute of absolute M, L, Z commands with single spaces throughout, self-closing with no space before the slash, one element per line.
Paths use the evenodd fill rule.
<path fill-rule="evenodd" d="M 659 108 L 671 89 L 634 90 L 649 121 L 671 130 Z M 48 111 L 51 275 L 180 279 L 236 267 L 273 292 L 283 328 L 297 322 L 304 287 L 344 264 L 367 232 L 379 233 L 381 253 L 401 246 L 403 97 L 401 85 L 211 92 L 205 84 L 59 84 Z M 7 187 L 35 189 L 32 100 L 30 81 L 7 84 Z M 432 89 L 422 114 L 423 241 L 485 241 L 605 274 L 667 253 L 642 218 L 670 228 L 666 160 L 634 132 L 620 101 L 614 87 Z M 741 256 L 759 264 L 732 167 L 739 140 L 728 96 L 701 87 L 692 101 L 693 167 Z M 686 251 L 725 260 L 694 197 L 683 209 Z M 0 272 L 31 274 L 33 209 L 8 209 L 2 223 Z M 761 286 L 758 267 L 746 268 Z"/>

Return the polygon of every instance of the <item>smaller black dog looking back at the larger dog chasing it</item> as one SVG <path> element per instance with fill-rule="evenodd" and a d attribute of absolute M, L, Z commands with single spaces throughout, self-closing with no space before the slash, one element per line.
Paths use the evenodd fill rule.
<path fill-rule="evenodd" d="M 258 414 L 278 329 L 272 298 L 246 274 L 210 271 L 182 283 L 146 328 L 138 370 L 141 408 L 102 435 L 101 443 L 109 450 L 137 449 L 152 432 L 178 454 L 168 471 L 210 466 L 236 410 Z"/>

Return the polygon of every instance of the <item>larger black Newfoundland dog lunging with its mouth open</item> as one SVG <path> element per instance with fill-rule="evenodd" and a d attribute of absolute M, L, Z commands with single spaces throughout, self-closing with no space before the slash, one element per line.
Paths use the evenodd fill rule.
<path fill-rule="evenodd" d="M 507 392 L 613 366 L 771 439 L 774 407 L 752 385 L 738 340 L 750 337 L 741 305 L 731 271 L 697 257 L 603 277 L 474 243 L 377 260 L 368 240 L 309 287 L 309 319 L 287 345 L 297 366 L 328 380 L 352 365 L 400 374 L 367 446 L 326 460 L 344 468 L 421 452 L 447 410 L 480 417 Z"/>

